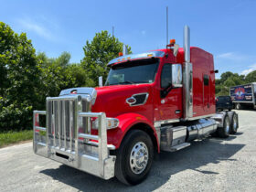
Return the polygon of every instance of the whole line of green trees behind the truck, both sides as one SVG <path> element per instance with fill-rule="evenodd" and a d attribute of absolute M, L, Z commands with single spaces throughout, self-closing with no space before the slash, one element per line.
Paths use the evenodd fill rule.
<path fill-rule="evenodd" d="M 48 96 L 71 87 L 95 87 L 99 76 L 106 80 L 108 61 L 122 49 L 117 37 L 101 31 L 86 41 L 80 63 L 70 63 L 69 52 L 48 58 L 36 52 L 26 33 L 17 34 L 0 22 L 0 132 L 31 129 L 33 110 L 45 110 Z M 256 70 L 247 76 L 225 72 L 216 80 L 216 93 L 229 95 L 230 86 L 252 81 Z"/>

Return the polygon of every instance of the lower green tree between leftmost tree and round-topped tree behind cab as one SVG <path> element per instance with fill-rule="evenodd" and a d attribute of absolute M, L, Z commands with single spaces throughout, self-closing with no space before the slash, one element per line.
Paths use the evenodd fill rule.
<path fill-rule="evenodd" d="M 48 58 L 45 53 L 38 53 L 41 69 L 41 100 L 48 96 L 58 96 L 59 92 L 71 87 L 91 87 L 93 81 L 80 64 L 69 63 L 70 54 L 63 52 L 59 58 Z M 45 103 L 41 101 L 43 106 Z M 41 106 L 41 108 L 43 108 Z"/>

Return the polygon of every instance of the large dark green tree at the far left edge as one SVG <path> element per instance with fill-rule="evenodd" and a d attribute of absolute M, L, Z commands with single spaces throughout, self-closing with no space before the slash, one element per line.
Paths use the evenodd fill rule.
<path fill-rule="evenodd" d="M 25 33 L 0 22 L 0 129 L 27 128 L 40 84 L 35 49 Z"/>

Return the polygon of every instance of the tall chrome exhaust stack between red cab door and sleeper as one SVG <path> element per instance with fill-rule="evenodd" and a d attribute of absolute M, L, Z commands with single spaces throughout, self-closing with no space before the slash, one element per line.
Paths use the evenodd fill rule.
<path fill-rule="evenodd" d="M 183 37 L 184 64 L 183 64 L 183 118 L 189 120 L 193 117 L 193 69 L 190 62 L 190 29 L 184 27 Z"/>

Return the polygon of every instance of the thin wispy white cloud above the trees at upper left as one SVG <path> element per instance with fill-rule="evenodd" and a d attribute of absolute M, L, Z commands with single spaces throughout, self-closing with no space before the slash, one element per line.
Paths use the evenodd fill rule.
<path fill-rule="evenodd" d="M 48 40 L 54 40 L 51 32 L 42 23 L 32 21 L 29 18 L 23 18 L 17 20 L 18 24 L 25 32 L 31 31 L 37 34 L 39 37 L 44 37 Z"/>

